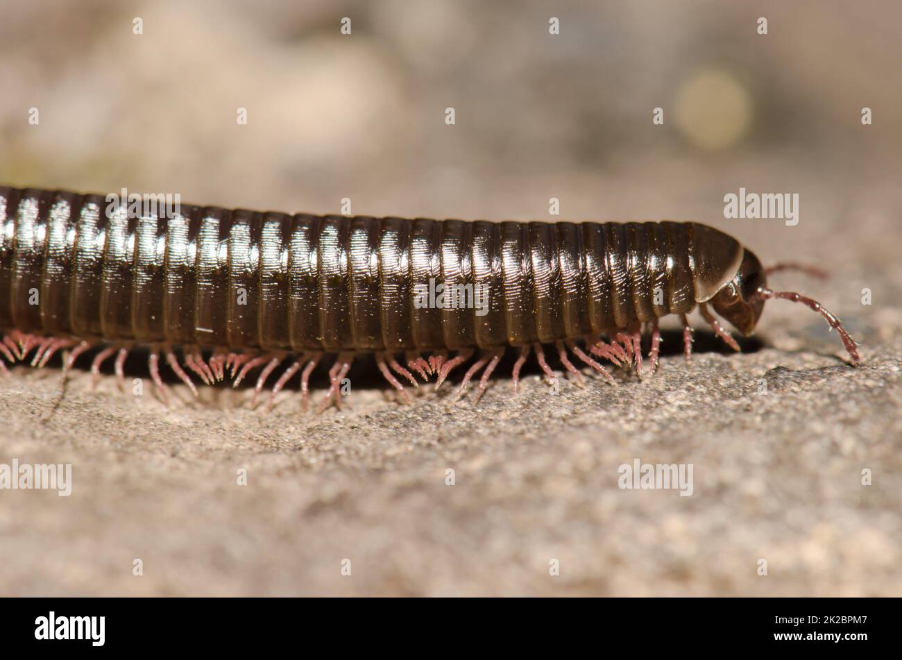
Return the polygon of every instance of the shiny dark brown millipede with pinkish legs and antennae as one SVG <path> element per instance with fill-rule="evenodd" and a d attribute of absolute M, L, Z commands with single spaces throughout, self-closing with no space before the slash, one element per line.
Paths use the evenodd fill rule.
<path fill-rule="evenodd" d="M 96 349 L 95 382 L 110 359 L 121 381 L 126 356 L 142 346 L 164 400 L 161 362 L 195 395 L 190 374 L 213 384 L 227 372 L 237 385 L 260 370 L 254 401 L 282 365 L 270 407 L 300 371 L 306 409 L 311 373 L 334 356 L 320 410 L 341 405 L 340 385 L 361 355 L 373 355 L 408 401 L 401 380 L 434 379 L 438 388 L 465 365 L 457 398 L 478 377 L 478 400 L 508 350 L 517 352 L 514 392 L 533 353 L 557 383 L 547 351 L 578 383 L 571 356 L 612 382 L 602 362 L 641 379 L 643 337 L 648 373 L 658 368 L 662 316 L 682 321 L 688 361 L 686 315 L 695 307 L 739 350 L 714 315 L 750 335 L 771 298 L 820 313 L 852 364 L 861 361 L 837 316 L 769 289 L 769 274 L 804 266 L 765 269 L 732 236 L 695 222 L 465 222 L 189 205 L 168 213 L 159 202 L 130 213 L 109 197 L 0 187 L 0 227 L 0 371 L 29 356 L 42 367 L 61 351 L 65 374 Z M 483 308 L 414 304 L 436 282 L 478 288 Z"/>

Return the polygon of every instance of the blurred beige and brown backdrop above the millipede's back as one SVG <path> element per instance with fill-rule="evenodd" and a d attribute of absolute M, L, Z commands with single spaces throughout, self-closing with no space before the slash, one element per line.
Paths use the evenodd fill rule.
<path fill-rule="evenodd" d="M 560 219 L 718 226 L 744 187 L 800 195 L 795 228 L 728 223 L 765 261 L 814 244 L 851 267 L 899 246 L 900 20 L 888 0 L 5 2 L 0 180 L 465 219 L 547 219 L 558 197 Z"/>

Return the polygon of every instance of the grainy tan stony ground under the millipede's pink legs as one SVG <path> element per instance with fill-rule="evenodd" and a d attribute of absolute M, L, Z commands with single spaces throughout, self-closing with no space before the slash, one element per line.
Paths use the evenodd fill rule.
<path fill-rule="evenodd" d="M 653 379 L 557 396 L 534 374 L 513 398 L 500 378 L 475 407 L 450 390 L 400 406 L 373 380 L 340 413 L 300 415 L 289 392 L 265 415 L 250 390 L 193 401 L 179 386 L 166 408 L 112 377 L 92 393 L 84 372 L 58 403 L 57 372 L 19 368 L 0 385 L 0 452 L 72 463 L 73 490 L 3 492 L 0 586 L 898 595 L 902 346 L 871 343 L 851 369 L 816 322 L 801 314 L 783 339 L 816 351 L 728 355 L 702 335 L 691 368 L 670 354 Z M 637 458 L 691 463 L 693 493 L 622 490 L 618 468 Z"/>

